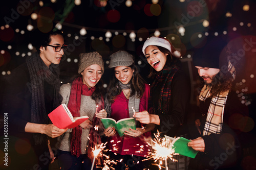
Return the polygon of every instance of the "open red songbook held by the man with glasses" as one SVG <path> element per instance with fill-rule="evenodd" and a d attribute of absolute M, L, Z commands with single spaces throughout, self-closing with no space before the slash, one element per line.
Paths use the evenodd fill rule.
<path fill-rule="evenodd" d="M 59 105 L 48 116 L 53 125 L 59 129 L 75 128 L 89 118 L 88 116 L 80 116 L 74 119 L 66 104 Z"/>

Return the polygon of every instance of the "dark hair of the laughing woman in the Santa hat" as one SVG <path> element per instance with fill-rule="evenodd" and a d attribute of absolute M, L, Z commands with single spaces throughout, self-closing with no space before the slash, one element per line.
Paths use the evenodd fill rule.
<path fill-rule="evenodd" d="M 158 45 L 153 45 L 158 47 L 159 51 L 164 53 L 164 54 L 168 54 L 166 56 L 166 63 L 165 65 L 167 66 L 168 71 L 173 67 L 173 65 L 177 65 L 178 67 L 181 66 L 181 61 L 180 59 L 173 57 L 172 54 L 170 53 L 170 51 L 162 46 L 158 46 Z M 148 75 L 148 78 L 155 78 L 155 76 L 158 74 L 158 71 L 156 71 L 153 67 L 150 68 L 150 74 Z"/>

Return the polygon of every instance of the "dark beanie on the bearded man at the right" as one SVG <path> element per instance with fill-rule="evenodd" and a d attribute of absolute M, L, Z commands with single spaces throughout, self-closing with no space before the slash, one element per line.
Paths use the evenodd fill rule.
<path fill-rule="evenodd" d="M 206 44 L 203 47 L 197 48 L 194 51 L 194 66 L 221 68 L 220 58 L 225 55 L 226 45 L 226 41 L 219 37 L 207 40 Z"/>

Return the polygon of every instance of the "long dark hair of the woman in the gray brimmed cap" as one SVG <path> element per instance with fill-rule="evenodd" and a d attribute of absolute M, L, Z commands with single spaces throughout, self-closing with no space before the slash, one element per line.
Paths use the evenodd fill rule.
<path fill-rule="evenodd" d="M 135 95 L 135 92 L 137 92 L 137 96 L 136 98 L 141 98 L 144 91 L 145 91 L 145 80 L 140 76 L 139 71 L 137 66 L 135 66 L 134 64 L 130 65 L 129 67 L 131 67 L 134 70 L 133 73 L 133 77 L 132 77 L 132 82 L 131 82 L 131 89 L 132 89 L 132 93 L 130 96 Z M 108 85 L 108 92 L 106 93 L 106 98 L 110 101 L 110 103 L 113 103 L 115 100 L 115 96 L 119 95 L 122 91 L 121 88 L 117 88 L 118 87 L 118 83 L 119 80 L 116 79 L 115 77 L 115 68 L 111 68 L 111 79 L 110 79 L 110 83 Z"/>

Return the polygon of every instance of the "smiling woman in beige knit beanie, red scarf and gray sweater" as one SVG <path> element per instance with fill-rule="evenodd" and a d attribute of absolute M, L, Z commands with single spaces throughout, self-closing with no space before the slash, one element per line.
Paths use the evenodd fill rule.
<path fill-rule="evenodd" d="M 68 106 L 73 117 L 87 115 L 89 119 L 59 137 L 58 162 L 62 170 L 80 170 L 92 166 L 90 149 L 93 144 L 99 144 L 93 143 L 94 139 L 100 141 L 94 126 L 100 123 L 99 118 L 104 118 L 107 114 L 103 109 L 104 88 L 100 81 L 104 72 L 102 57 L 97 52 L 82 53 L 78 67 L 80 76 L 72 84 L 63 84 L 59 93 L 63 98 L 62 104 Z"/>

